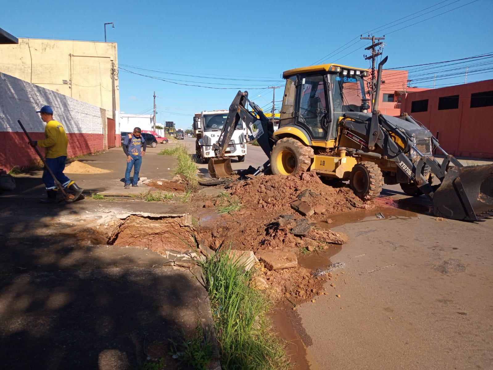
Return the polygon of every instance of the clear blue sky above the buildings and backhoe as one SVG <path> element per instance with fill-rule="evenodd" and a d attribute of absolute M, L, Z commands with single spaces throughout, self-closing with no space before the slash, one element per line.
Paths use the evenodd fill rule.
<path fill-rule="evenodd" d="M 282 86 L 288 69 L 315 63 L 368 68 L 363 54 L 370 42 L 359 40 L 361 34 L 386 36 L 386 68 L 493 54 L 492 0 L 376 3 L 17 0 L 2 6 L 0 28 L 15 37 L 104 41 L 104 23 L 114 22 L 106 39 L 118 43 L 120 110 L 150 114 L 156 91 L 157 121 L 183 129 L 195 112 L 227 109 L 240 89 L 270 111 L 266 87 Z M 467 82 L 493 78 L 492 56 L 454 63 L 405 69 L 418 87 L 431 87 L 434 74 L 437 87 L 463 83 L 466 67 Z M 276 100 L 281 97 L 282 88 Z"/>

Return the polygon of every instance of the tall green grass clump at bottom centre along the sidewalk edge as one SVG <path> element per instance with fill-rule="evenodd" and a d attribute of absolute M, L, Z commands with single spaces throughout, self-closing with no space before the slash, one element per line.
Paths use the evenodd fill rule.
<path fill-rule="evenodd" d="M 255 290 L 252 273 L 219 251 L 201 262 L 211 300 L 212 317 L 223 369 L 290 369 L 279 338 L 266 316 L 271 302 Z"/>

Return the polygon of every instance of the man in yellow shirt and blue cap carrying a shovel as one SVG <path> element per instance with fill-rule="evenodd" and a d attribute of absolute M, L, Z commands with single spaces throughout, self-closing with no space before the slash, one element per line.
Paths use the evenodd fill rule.
<path fill-rule="evenodd" d="M 74 192 L 73 201 L 78 200 L 82 191 L 75 182 L 71 181 L 63 171 L 65 170 L 65 162 L 67 160 L 67 145 L 69 144 L 69 139 L 65 133 L 65 129 L 62 124 L 53 119 L 53 110 L 50 106 L 43 106 L 36 113 L 41 114 L 41 119 L 46 122 L 46 127 L 44 128 L 44 140 L 31 141 L 29 144 L 34 148 L 35 146 L 46 148 L 46 166 L 48 166 L 57 180 L 66 187 Z M 55 186 L 55 181 L 51 177 L 50 173 L 46 168 L 43 171 L 43 183 L 46 188 L 46 199 L 39 199 L 40 203 L 56 203 L 57 202 L 57 187 Z"/>

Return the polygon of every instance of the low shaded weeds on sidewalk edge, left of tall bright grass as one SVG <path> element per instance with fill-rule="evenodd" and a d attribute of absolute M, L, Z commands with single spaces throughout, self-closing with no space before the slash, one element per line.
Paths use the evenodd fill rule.
<path fill-rule="evenodd" d="M 172 342 L 173 354 L 178 355 L 178 361 L 197 370 L 207 370 L 214 357 L 210 334 L 204 333 L 199 324 L 192 338 L 184 340 L 181 344 Z"/>

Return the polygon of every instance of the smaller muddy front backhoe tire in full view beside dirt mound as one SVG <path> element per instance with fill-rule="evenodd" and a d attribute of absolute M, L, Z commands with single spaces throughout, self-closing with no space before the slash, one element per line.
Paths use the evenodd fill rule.
<path fill-rule="evenodd" d="M 372 200 L 380 195 L 384 177 L 380 167 L 373 162 L 359 162 L 351 171 L 349 186 L 362 200 Z"/>

